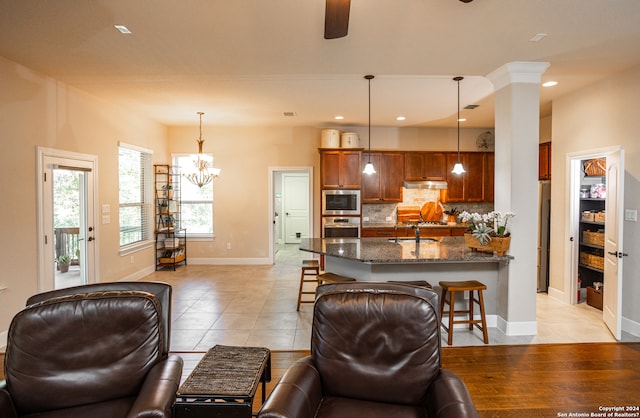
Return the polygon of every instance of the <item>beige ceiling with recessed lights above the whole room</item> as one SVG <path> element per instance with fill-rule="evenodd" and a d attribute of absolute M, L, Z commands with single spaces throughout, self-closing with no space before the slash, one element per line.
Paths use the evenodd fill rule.
<path fill-rule="evenodd" d="M 0 56 L 170 126 L 493 126 L 486 75 L 544 61 L 555 97 L 640 63 L 638 0 L 0 0 Z M 131 30 L 123 35 L 115 28 Z M 547 34 L 539 42 L 530 39 Z M 1 92 L 0 92 L 1 94 Z M 293 116 L 285 116 L 292 112 Z M 344 116 L 343 121 L 334 116 Z M 397 121 L 397 116 L 406 120 Z"/>

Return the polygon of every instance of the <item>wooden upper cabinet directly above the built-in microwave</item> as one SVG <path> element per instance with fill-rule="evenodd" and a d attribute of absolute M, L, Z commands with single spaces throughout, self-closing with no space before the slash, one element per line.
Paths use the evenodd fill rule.
<path fill-rule="evenodd" d="M 323 189 L 359 189 L 361 150 L 320 151 L 320 186 Z"/>

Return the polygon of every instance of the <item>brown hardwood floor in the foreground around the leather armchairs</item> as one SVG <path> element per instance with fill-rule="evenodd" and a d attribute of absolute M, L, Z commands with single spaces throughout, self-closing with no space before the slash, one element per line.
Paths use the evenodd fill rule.
<path fill-rule="evenodd" d="M 186 378 L 204 353 L 178 354 Z M 272 352 L 267 394 L 289 365 L 308 354 Z M 597 414 L 608 407 L 623 408 L 611 417 L 640 416 L 640 343 L 443 347 L 442 359 L 464 380 L 483 418 L 607 416 Z M 254 412 L 260 406 L 258 398 Z"/>

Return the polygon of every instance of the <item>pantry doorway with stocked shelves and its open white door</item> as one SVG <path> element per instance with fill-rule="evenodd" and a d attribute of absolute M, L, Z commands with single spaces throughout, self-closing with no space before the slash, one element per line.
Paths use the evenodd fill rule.
<path fill-rule="evenodd" d="M 570 303 L 592 296 L 611 334 L 622 338 L 622 212 L 624 152 L 620 147 L 574 153 L 570 164 Z M 597 171 L 589 172 L 593 164 Z M 589 167 L 589 168 L 588 168 Z M 579 278 L 580 280 L 576 280 Z M 580 286 L 580 287 L 579 287 Z M 582 288 L 585 287 L 585 291 Z M 592 304 L 592 302 L 589 302 Z"/>

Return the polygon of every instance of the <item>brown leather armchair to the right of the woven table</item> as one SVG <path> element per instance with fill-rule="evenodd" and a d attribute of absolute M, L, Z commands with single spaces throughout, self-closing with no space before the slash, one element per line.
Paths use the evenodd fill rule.
<path fill-rule="evenodd" d="M 464 382 L 441 368 L 438 312 L 424 287 L 319 286 L 311 355 L 287 370 L 258 417 L 478 417 Z"/>

